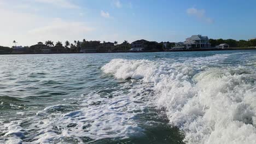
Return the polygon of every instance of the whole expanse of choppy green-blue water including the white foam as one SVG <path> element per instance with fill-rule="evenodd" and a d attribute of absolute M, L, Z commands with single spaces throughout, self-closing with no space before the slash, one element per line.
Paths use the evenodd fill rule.
<path fill-rule="evenodd" d="M 256 143 L 256 51 L 0 56 L 0 143 Z"/>

